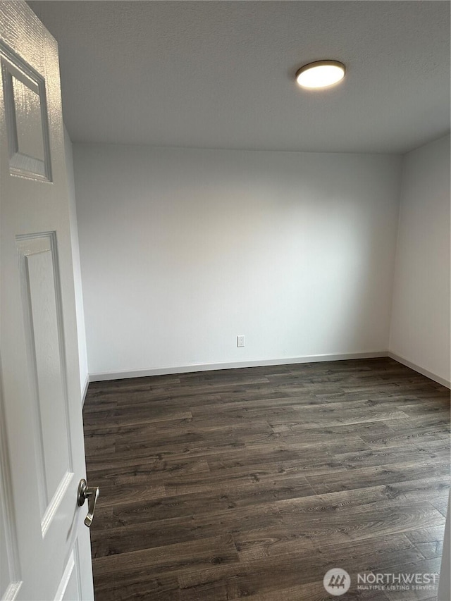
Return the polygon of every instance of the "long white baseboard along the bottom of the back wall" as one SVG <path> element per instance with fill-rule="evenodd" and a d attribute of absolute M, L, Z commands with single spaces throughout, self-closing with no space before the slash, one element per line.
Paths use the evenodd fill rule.
<path fill-rule="evenodd" d="M 257 359 L 256 361 L 224 361 L 223 363 L 197 363 L 175 367 L 156 367 L 134 369 L 131 371 L 104 371 L 89 373 L 89 382 L 104 380 L 123 380 L 124 378 L 143 378 L 146 376 L 166 376 L 171 373 L 190 373 L 192 371 L 212 371 L 215 369 L 239 369 L 242 367 L 263 367 L 266 365 L 288 365 L 295 363 L 316 363 L 319 361 L 345 361 L 346 359 L 376 359 L 387 357 L 387 351 L 364 353 L 338 353 L 309 355 L 306 357 L 286 357 L 285 359 Z"/>

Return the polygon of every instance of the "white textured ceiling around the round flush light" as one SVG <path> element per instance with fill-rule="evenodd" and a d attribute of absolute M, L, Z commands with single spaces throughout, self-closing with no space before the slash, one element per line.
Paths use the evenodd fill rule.
<path fill-rule="evenodd" d="M 74 142 L 404 153 L 450 129 L 447 1 L 30 1 Z M 347 66 L 305 91 L 304 63 Z"/>

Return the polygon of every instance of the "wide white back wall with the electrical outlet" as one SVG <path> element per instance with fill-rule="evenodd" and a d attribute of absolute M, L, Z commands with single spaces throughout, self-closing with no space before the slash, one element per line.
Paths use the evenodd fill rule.
<path fill-rule="evenodd" d="M 386 351 L 399 157 L 75 144 L 74 161 L 93 378 Z"/>

